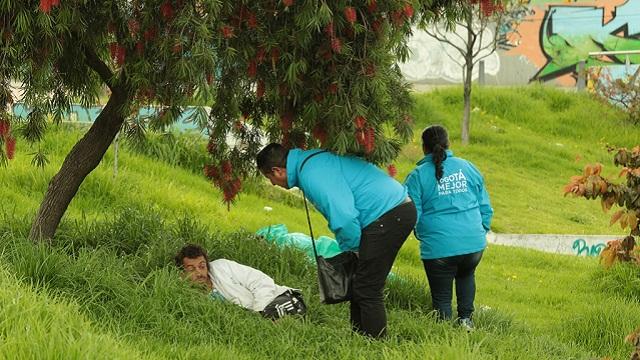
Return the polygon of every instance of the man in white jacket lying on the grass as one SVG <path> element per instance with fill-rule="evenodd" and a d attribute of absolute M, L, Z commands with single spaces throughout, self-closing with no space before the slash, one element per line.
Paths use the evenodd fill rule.
<path fill-rule="evenodd" d="M 213 299 L 230 301 L 272 320 L 307 312 L 300 290 L 280 286 L 260 270 L 235 261 L 209 262 L 207 252 L 198 245 L 184 246 L 175 262 L 185 278 L 204 286 Z"/>

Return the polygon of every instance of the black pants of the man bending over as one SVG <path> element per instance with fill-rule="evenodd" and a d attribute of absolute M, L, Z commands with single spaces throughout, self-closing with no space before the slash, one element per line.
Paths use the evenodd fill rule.
<path fill-rule="evenodd" d="M 351 326 L 370 337 L 386 335 L 382 292 L 393 261 L 416 223 L 416 207 L 405 202 L 362 229 L 352 283 Z"/>

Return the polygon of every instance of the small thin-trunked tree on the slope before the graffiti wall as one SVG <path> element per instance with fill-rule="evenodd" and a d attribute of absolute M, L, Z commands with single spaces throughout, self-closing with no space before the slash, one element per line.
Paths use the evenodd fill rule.
<path fill-rule="evenodd" d="M 466 145 L 469 143 L 473 70 L 480 60 L 493 54 L 499 46 L 511 46 L 510 37 L 517 33 L 518 25 L 530 10 L 521 0 L 470 0 L 462 5 L 460 11 L 453 26 L 440 22 L 436 26 L 427 25 L 425 31 L 454 49 L 456 54 L 447 52 L 447 55 L 462 69 L 464 111 L 461 139 Z"/>

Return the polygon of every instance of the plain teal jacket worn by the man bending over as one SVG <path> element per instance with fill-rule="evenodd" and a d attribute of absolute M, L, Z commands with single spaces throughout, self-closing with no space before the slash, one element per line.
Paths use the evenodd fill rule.
<path fill-rule="evenodd" d="M 360 158 L 321 150 L 292 149 L 287 157 L 288 187 L 297 186 L 324 215 L 342 251 L 357 251 L 362 229 L 400 205 L 407 190 L 377 166 Z"/>

